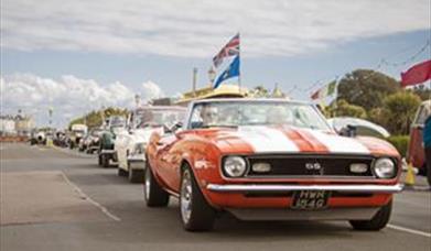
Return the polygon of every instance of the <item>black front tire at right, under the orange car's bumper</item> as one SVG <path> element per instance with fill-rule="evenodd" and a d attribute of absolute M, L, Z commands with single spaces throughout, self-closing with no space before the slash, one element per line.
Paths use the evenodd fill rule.
<path fill-rule="evenodd" d="M 370 220 L 351 220 L 355 230 L 378 231 L 389 222 L 392 211 L 392 200 L 382 206 Z"/>

